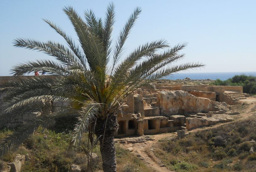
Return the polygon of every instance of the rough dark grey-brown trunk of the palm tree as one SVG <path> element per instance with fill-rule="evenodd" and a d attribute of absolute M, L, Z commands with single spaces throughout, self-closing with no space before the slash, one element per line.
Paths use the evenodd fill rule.
<path fill-rule="evenodd" d="M 99 137 L 102 168 L 104 172 L 116 172 L 114 132 L 117 129 L 118 123 L 116 115 L 109 115 L 107 122 L 106 119 L 97 119 L 95 134 Z"/>

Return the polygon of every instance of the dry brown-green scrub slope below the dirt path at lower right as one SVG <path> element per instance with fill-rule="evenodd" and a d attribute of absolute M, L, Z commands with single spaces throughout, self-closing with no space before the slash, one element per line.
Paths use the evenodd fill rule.
<path fill-rule="evenodd" d="M 154 153 L 175 171 L 251 171 L 256 153 L 250 154 L 256 116 L 216 128 L 190 133 L 186 138 L 162 139 Z"/>

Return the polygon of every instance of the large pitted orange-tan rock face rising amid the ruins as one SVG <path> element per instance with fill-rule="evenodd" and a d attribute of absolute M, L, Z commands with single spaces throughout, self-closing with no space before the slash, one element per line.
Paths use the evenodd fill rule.
<path fill-rule="evenodd" d="M 210 99 L 196 97 L 186 91 L 161 91 L 157 95 L 160 115 L 207 113 L 215 104 Z"/>

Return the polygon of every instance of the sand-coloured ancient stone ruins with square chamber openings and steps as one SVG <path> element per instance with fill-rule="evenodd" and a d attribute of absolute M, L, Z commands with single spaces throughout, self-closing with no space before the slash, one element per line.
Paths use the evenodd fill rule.
<path fill-rule="evenodd" d="M 10 79 L 10 77 L 8 78 Z M 0 77 L 1 81 L 6 80 Z M 155 84 L 156 89 L 137 89 L 128 95 L 118 112 L 119 130 L 115 137 L 147 135 L 178 130 L 191 130 L 200 126 L 228 122 L 232 111 L 230 105 L 246 99 L 243 87 L 215 85 Z M 2 101 L 0 95 L 0 104 Z M 59 102 L 45 102 L 58 104 Z M 21 115 L 19 119 L 9 121 L 9 127 L 15 127 L 23 121 L 36 118 L 51 109 L 43 109 Z M 0 113 L 4 113 L 3 109 Z"/>

